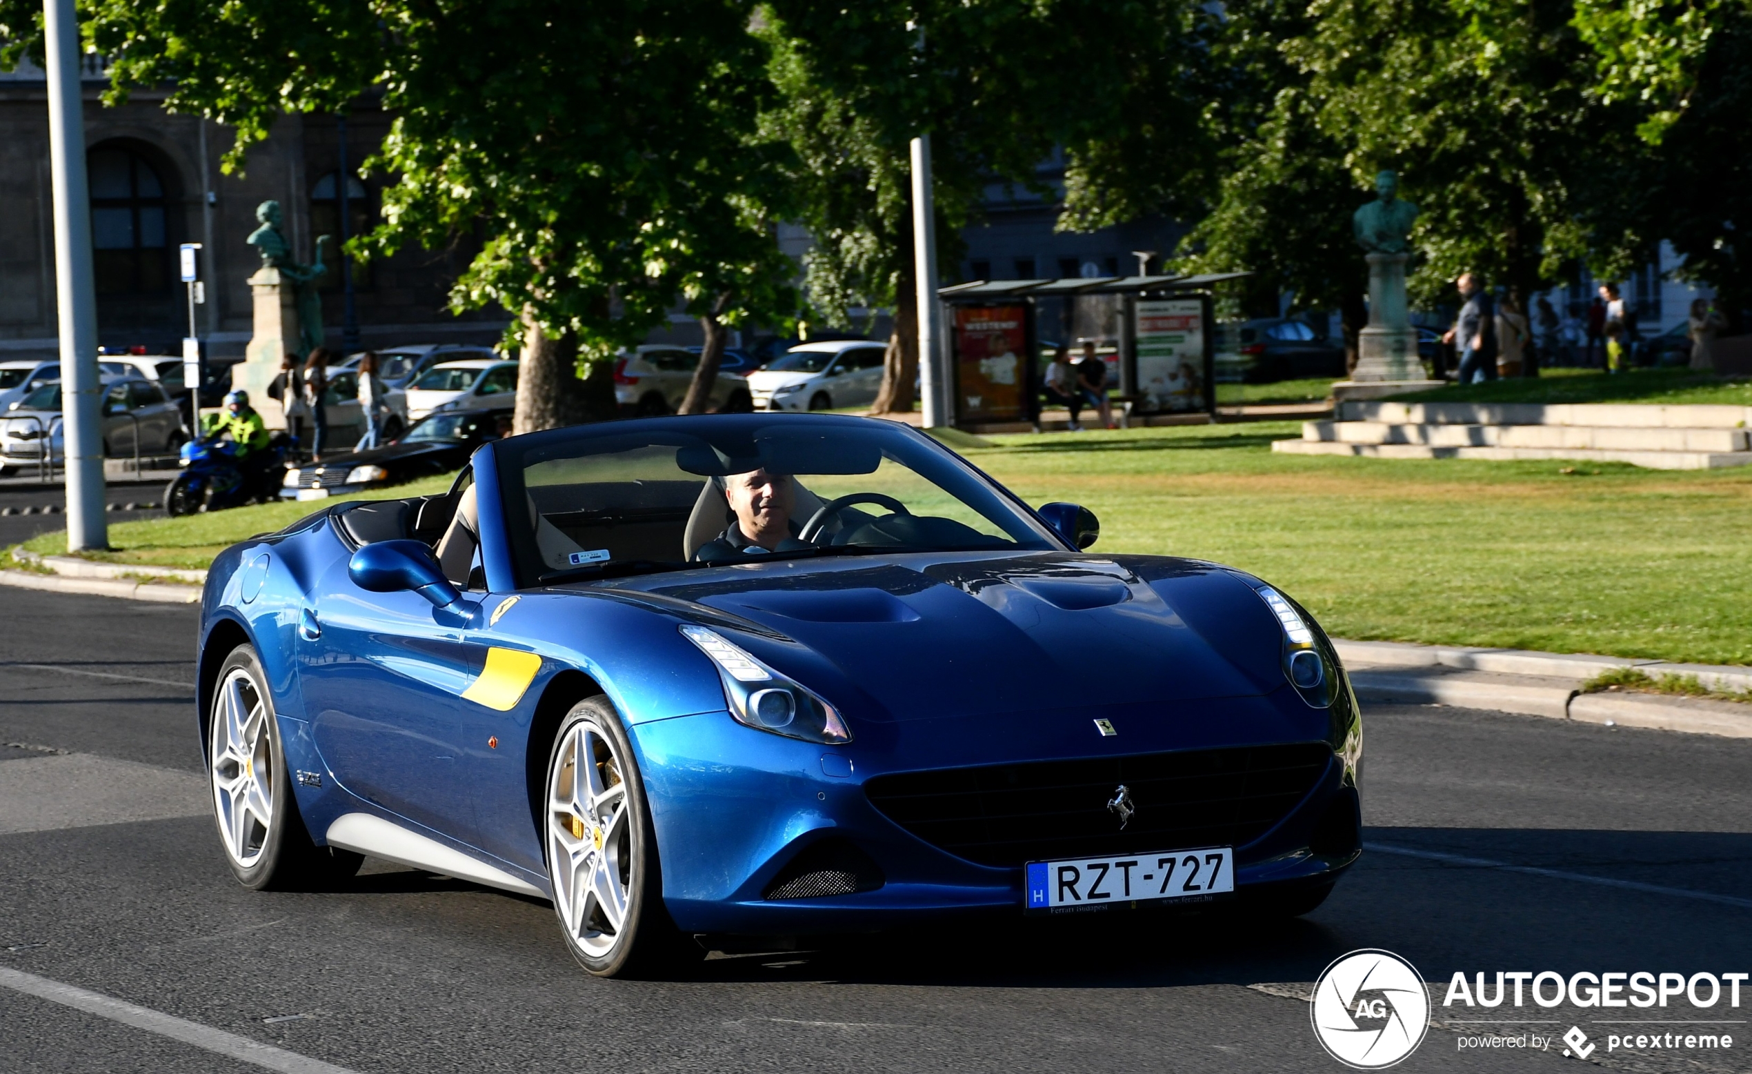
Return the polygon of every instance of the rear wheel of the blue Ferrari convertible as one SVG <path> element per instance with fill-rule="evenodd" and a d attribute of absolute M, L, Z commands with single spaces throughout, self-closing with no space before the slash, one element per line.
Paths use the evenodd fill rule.
<path fill-rule="evenodd" d="M 245 888 L 308 890 L 359 871 L 364 855 L 317 846 L 305 830 L 273 696 L 249 645 L 219 666 L 207 718 L 207 785 L 226 866 Z"/>

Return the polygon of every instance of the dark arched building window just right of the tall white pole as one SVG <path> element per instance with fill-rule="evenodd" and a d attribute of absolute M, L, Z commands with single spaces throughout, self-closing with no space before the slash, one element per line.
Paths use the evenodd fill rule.
<path fill-rule="evenodd" d="M 170 287 L 165 184 L 152 165 L 116 145 L 93 149 L 91 247 L 98 294 L 158 294 Z"/>

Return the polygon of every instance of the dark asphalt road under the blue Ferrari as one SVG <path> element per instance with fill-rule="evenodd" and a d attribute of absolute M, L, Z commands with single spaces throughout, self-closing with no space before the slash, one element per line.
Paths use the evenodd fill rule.
<path fill-rule="evenodd" d="M 1375 708 L 1377 850 L 1305 920 L 897 934 L 599 981 L 531 899 L 375 862 L 329 894 L 240 888 L 203 815 L 194 610 L 0 601 L 0 1070 L 261 1069 L 21 993 L 7 971 L 350 1070 L 1342 1070 L 1296 995 L 1354 948 L 1440 983 L 1438 1025 L 1400 1070 L 1556 1070 L 1572 1062 L 1561 1044 L 1461 1042 L 1570 1025 L 1603 1042 L 1622 1028 L 1603 1018 L 1747 1037 L 1715 1053 L 1600 1046 L 1608 1069 L 1752 1065 L 1752 988 L 1703 1013 L 1440 1007 L 1454 971 L 1752 969 L 1747 741 Z"/>

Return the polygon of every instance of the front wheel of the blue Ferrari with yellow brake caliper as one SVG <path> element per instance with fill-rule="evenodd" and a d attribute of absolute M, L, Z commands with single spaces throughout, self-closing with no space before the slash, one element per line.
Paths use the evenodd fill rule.
<path fill-rule="evenodd" d="M 646 976 L 704 957 L 664 909 L 645 781 L 606 697 L 580 701 L 561 720 L 543 802 L 554 913 L 583 969 Z"/>

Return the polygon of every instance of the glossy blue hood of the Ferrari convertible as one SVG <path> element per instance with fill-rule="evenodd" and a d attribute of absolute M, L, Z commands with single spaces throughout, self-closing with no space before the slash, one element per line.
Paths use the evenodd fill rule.
<path fill-rule="evenodd" d="M 1160 704 L 1284 687 L 1275 617 L 1246 575 L 1200 561 L 934 554 L 715 568 L 603 587 L 655 594 L 669 611 L 687 601 L 717 613 L 718 625 L 752 620 L 753 631 L 734 636 L 739 645 L 830 699 L 871 701 L 855 708 L 874 718 Z"/>

